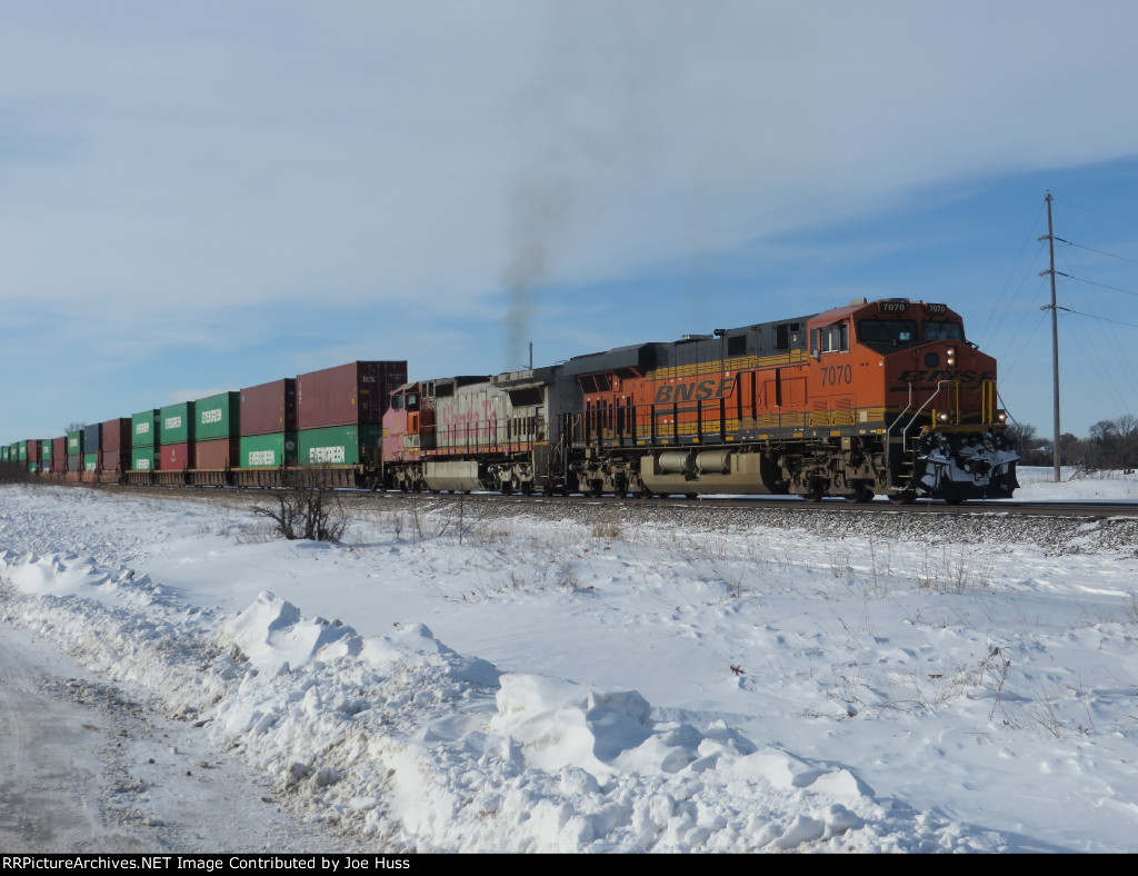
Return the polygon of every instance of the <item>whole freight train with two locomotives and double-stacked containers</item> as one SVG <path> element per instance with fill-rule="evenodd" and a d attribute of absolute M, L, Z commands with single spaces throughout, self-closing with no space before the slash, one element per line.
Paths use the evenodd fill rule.
<path fill-rule="evenodd" d="M 88 451 L 76 472 L 88 427 L 43 441 L 38 468 L 131 484 L 273 486 L 319 469 L 333 486 L 413 491 L 960 502 L 1019 486 L 998 402 L 996 361 L 957 313 L 863 298 L 496 375 L 409 382 L 405 362 L 352 363 L 108 421 L 102 456 Z"/>

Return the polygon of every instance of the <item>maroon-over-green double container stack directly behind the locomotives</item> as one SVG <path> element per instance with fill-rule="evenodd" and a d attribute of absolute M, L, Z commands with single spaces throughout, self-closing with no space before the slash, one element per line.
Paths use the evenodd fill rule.
<path fill-rule="evenodd" d="M 351 362 L 297 377 L 299 464 L 377 462 L 390 391 L 405 382 L 406 362 Z"/>

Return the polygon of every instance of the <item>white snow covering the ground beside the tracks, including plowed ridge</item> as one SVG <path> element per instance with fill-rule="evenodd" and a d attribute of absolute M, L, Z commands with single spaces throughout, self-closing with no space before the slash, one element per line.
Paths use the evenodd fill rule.
<path fill-rule="evenodd" d="M 1017 498 L 1138 501 L 1048 477 Z M 325 545 L 3 487 L 0 619 L 152 712 L 124 733 L 251 767 L 313 850 L 1138 849 L 1138 522 L 487 507 L 376 496 Z M 204 850 L 206 793 L 154 843 Z"/>

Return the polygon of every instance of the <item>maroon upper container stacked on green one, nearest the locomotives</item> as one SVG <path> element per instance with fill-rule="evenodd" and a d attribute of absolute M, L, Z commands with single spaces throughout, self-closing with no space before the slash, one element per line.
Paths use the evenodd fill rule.
<path fill-rule="evenodd" d="M 390 391 L 406 382 L 406 362 L 349 362 L 300 374 L 296 379 L 296 427 L 382 423 Z"/>

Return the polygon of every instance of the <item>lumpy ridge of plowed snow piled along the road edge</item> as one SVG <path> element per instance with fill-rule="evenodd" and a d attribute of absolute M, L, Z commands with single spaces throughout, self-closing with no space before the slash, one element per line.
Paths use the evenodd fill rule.
<path fill-rule="evenodd" d="M 18 612 L 93 670 L 149 687 L 275 775 L 294 807 L 385 848 L 959 844 L 950 825 L 898 819 L 844 767 L 760 750 L 721 721 L 653 721 L 635 692 L 500 676 L 422 625 L 364 638 L 269 592 L 233 615 L 187 613 L 148 579 L 74 556 L 6 552 L 0 571 L 19 590 L 6 588 L 7 618 Z"/>

